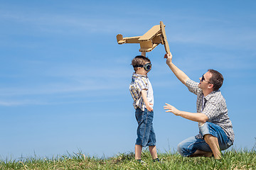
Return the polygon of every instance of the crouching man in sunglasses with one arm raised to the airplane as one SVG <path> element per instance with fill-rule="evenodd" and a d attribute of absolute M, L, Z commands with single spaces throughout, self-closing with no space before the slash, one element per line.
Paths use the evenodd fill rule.
<path fill-rule="evenodd" d="M 166 112 L 174 113 L 182 118 L 198 122 L 199 134 L 189 137 L 178 144 L 178 152 L 183 157 L 211 157 L 221 159 L 220 150 L 228 149 L 234 142 L 233 125 L 228 117 L 228 109 L 220 93 L 223 76 L 219 72 L 209 69 L 196 83 L 172 63 L 172 55 L 166 54 L 166 64 L 175 76 L 197 95 L 197 113 L 179 111 L 166 103 Z"/>

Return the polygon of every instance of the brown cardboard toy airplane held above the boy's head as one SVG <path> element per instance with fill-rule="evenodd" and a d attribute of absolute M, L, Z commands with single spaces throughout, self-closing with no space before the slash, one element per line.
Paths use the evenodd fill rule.
<path fill-rule="evenodd" d="M 124 43 L 139 43 L 141 47 L 139 52 L 142 52 L 142 55 L 144 56 L 146 56 L 146 52 L 150 52 L 160 43 L 164 44 L 166 53 L 171 53 L 164 27 L 164 23 L 160 21 L 160 25 L 153 26 L 142 36 L 123 38 L 122 34 L 118 34 L 117 42 L 120 45 Z"/>

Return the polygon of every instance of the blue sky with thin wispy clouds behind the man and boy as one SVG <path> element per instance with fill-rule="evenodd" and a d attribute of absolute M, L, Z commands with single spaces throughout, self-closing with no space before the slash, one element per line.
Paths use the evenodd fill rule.
<path fill-rule="evenodd" d="M 96 157 L 133 152 L 137 122 L 129 83 L 138 44 L 118 45 L 163 21 L 174 64 L 198 81 L 207 69 L 221 87 L 235 131 L 233 148 L 255 145 L 255 1 L 0 1 L 1 159 Z M 196 112 L 196 96 L 174 77 L 164 46 L 152 65 L 159 152 L 196 135 L 197 123 L 164 103 Z"/>

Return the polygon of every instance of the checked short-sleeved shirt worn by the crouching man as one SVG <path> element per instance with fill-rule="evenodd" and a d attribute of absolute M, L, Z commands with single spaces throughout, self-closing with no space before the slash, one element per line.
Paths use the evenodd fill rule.
<path fill-rule="evenodd" d="M 198 87 L 198 83 L 188 79 L 186 81 L 188 90 L 197 95 L 196 110 L 198 113 L 204 113 L 208 117 L 208 122 L 219 125 L 234 142 L 235 135 L 233 132 L 233 125 L 228 117 L 228 108 L 225 103 L 225 98 L 218 91 L 212 91 L 207 96 L 203 96 L 203 91 Z"/>

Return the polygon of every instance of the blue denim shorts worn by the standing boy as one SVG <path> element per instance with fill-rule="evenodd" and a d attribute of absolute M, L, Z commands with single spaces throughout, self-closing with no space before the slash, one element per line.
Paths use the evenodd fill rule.
<path fill-rule="evenodd" d="M 136 109 L 135 117 L 138 123 L 137 140 L 135 145 L 155 146 L 156 135 L 153 128 L 154 112 L 148 111 L 146 108 L 142 111 L 140 108 Z"/>

